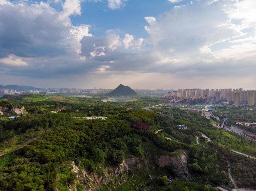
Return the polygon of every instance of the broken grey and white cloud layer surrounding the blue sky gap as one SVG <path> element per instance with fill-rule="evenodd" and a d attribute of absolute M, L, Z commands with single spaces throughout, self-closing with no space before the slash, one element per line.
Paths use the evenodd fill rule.
<path fill-rule="evenodd" d="M 89 24 L 75 26 L 70 16 L 81 15 L 81 2 L 60 1 L 59 10 L 50 1 L 0 0 L 0 74 L 45 82 L 70 76 L 74 82 L 82 78 L 93 84 L 95 78 L 108 78 L 115 83 L 106 88 L 121 83 L 114 80 L 120 76 L 125 82 L 132 77 L 146 84 L 162 75 L 165 88 L 177 79 L 185 86 L 199 77 L 209 84 L 224 76 L 255 82 L 254 0 L 194 0 L 158 17 L 146 16 L 144 39 L 113 29 L 95 36 Z M 129 2 L 107 3 L 114 10 Z"/>

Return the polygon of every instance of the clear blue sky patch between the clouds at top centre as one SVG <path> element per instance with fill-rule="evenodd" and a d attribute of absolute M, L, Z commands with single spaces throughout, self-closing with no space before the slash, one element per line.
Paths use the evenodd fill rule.
<path fill-rule="evenodd" d="M 132 0 L 126 2 L 121 9 L 111 10 L 107 2 L 82 2 L 81 16 L 71 17 L 74 25 L 90 24 L 96 36 L 106 34 L 108 29 L 119 29 L 121 34 L 132 34 L 136 37 L 146 38 L 148 33 L 144 30 L 147 22 L 144 17 L 157 17 L 173 6 L 182 5 L 186 1 L 171 3 L 166 0 Z"/>

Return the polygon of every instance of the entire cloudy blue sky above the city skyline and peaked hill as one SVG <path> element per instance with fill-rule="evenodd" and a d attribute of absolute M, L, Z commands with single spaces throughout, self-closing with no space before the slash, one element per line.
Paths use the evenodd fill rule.
<path fill-rule="evenodd" d="M 0 0 L 0 84 L 256 90 L 255 0 Z"/>

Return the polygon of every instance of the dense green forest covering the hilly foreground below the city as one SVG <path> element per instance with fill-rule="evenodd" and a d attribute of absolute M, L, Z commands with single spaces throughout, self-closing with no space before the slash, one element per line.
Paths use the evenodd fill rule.
<path fill-rule="evenodd" d="M 256 156 L 255 143 L 214 128 L 198 113 L 174 108 L 142 109 L 149 103 L 163 101 L 156 97 L 137 97 L 137 101 L 130 102 L 25 98 L 9 101 L 25 106 L 28 114 L 14 120 L 1 116 L 0 190 L 69 190 L 72 186 L 85 190 L 89 183 L 78 180 L 74 165 L 104 179 L 121 169 L 127 159 L 139 161 L 134 167 L 137 172 L 131 168 L 102 185 L 97 184 L 97 189 L 232 188 L 229 167 L 239 186 L 255 187 L 255 160 L 229 151 L 232 148 Z M 107 119 L 84 118 L 87 116 Z M 187 125 L 188 129 L 177 129 L 179 124 Z M 177 167 L 174 161 L 184 156 L 187 164 Z M 161 165 L 159 160 L 166 157 L 173 162 Z M 179 168 L 184 168 L 187 174 L 181 176 Z"/>

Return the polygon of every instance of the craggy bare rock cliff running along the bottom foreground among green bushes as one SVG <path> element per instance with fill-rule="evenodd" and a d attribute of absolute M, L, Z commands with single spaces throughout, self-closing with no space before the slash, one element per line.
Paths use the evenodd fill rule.
<path fill-rule="evenodd" d="M 184 153 L 180 157 L 175 156 L 155 156 L 156 160 L 146 157 L 127 157 L 119 167 L 102 168 L 104 175 L 99 175 L 96 172 L 89 173 L 86 170 L 79 170 L 79 168 L 72 162 L 73 172 L 77 174 L 77 181 L 82 184 L 85 190 L 95 191 L 102 185 L 107 185 L 111 181 L 121 185 L 126 182 L 129 170 L 140 170 L 144 164 L 147 170 L 152 170 L 158 167 L 173 167 L 176 169 L 177 174 L 183 177 L 188 176 L 187 171 L 187 157 Z M 151 177 L 152 178 L 152 177 Z M 74 187 L 70 187 L 70 191 L 76 191 Z"/>

